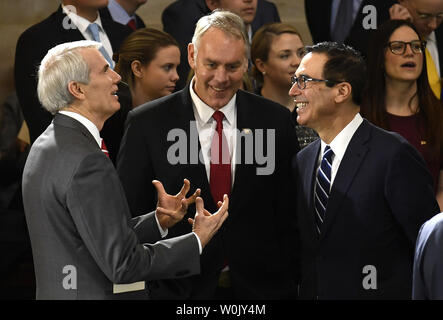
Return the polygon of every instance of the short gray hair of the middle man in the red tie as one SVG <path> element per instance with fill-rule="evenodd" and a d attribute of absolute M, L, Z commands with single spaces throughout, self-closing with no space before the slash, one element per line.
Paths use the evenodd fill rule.
<path fill-rule="evenodd" d="M 235 38 L 243 39 L 245 43 L 245 57 L 246 59 L 249 58 L 249 37 L 247 35 L 243 19 L 235 13 L 220 9 L 216 9 L 212 11 L 212 13 L 201 17 L 200 20 L 198 20 L 194 31 L 194 36 L 192 37 L 195 55 L 194 58 L 197 55 L 201 37 L 211 27 L 218 28 L 226 34 L 234 36 Z"/>

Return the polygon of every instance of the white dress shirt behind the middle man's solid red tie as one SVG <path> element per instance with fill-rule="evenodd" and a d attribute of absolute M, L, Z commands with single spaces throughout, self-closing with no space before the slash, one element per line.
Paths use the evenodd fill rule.
<path fill-rule="evenodd" d="M 215 133 L 215 128 L 217 122 L 212 117 L 214 112 L 213 108 L 204 103 L 195 93 L 194 88 L 194 78 L 192 79 L 189 90 L 191 92 L 192 106 L 194 109 L 194 116 L 198 131 L 198 137 L 200 140 L 201 151 L 203 154 L 203 159 L 205 162 L 206 175 L 209 181 L 210 170 L 211 170 L 211 144 L 212 137 Z M 231 187 L 234 185 L 235 177 L 235 159 L 236 156 L 236 145 L 237 145 L 237 108 L 235 105 L 237 94 L 234 94 L 228 104 L 220 108 L 219 111 L 223 112 L 225 118 L 223 119 L 223 133 L 226 137 L 229 147 L 229 154 L 231 157 Z"/>

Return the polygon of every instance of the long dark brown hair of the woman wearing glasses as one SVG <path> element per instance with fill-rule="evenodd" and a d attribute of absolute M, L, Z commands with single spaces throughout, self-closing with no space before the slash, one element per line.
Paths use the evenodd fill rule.
<path fill-rule="evenodd" d="M 388 113 L 386 111 L 386 79 L 385 53 L 391 35 L 402 26 L 414 30 L 420 38 L 415 26 L 407 20 L 388 20 L 374 33 L 368 53 L 368 82 L 363 95 L 361 112 L 364 117 L 375 125 L 389 130 Z M 426 69 L 426 55 L 423 54 L 423 69 L 418 77 L 417 92 L 411 98 L 418 97 L 419 114 L 424 122 L 425 138 L 429 141 L 430 150 L 434 155 L 440 152 L 443 142 L 441 102 L 433 94 Z"/>

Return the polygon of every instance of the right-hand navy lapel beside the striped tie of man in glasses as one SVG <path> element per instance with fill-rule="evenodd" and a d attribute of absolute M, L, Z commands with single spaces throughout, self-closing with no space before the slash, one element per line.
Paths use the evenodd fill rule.
<path fill-rule="evenodd" d="M 340 205 L 368 151 L 365 144 L 369 137 L 370 127 L 367 121 L 363 120 L 363 123 L 351 138 L 335 176 L 329 196 L 328 206 L 326 208 L 325 220 L 320 239 L 325 236 L 331 223 L 334 221 L 335 216 L 339 214 Z"/>

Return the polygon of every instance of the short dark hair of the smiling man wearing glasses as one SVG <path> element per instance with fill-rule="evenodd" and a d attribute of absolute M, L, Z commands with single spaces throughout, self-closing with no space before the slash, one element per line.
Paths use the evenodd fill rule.
<path fill-rule="evenodd" d="M 306 52 L 321 53 L 328 57 L 323 67 L 323 78 L 348 82 L 352 87 L 352 101 L 356 105 L 362 102 L 366 81 L 366 63 L 360 52 L 337 42 L 320 42 L 306 47 Z M 334 86 L 334 83 L 326 83 Z"/>

